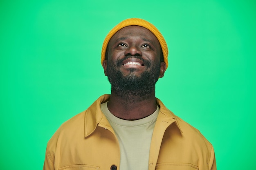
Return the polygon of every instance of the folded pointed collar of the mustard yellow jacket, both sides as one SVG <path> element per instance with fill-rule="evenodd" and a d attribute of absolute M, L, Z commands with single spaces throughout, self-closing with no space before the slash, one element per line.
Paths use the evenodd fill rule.
<path fill-rule="evenodd" d="M 97 128 L 98 124 L 100 124 L 104 128 L 112 129 L 108 120 L 101 111 L 101 104 L 107 102 L 109 99 L 110 95 L 102 95 L 87 110 L 85 110 L 85 137 L 91 135 L 92 132 L 94 132 L 94 130 Z M 177 117 L 170 110 L 168 110 L 159 99 L 156 98 L 156 102 L 160 108 L 159 113 L 164 114 L 166 119 L 171 119 L 172 121 L 174 121 L 176 126 L 182 132 Z"/>

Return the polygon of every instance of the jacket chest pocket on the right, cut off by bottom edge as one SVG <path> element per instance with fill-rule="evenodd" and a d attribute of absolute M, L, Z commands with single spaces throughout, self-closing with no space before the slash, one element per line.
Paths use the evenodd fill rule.
<path fill-rule="evenodd" d="M 199 170 L 199 168 L 190 163 L 157 163 L 155 170 Z"/>

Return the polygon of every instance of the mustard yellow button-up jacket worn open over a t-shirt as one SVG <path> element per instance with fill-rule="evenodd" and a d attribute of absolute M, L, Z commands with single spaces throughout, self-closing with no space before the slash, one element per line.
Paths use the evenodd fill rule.
<path fill-rule="evenodd" d="M 66 121 L 49 140 L 43 170 L 119 170 L 120 149 L 101 112 L 99 97 L 87 110 Z M 216 170 L 212 145 L 191 125 L 160 107 L 150 145 L 149 170 Z"/>

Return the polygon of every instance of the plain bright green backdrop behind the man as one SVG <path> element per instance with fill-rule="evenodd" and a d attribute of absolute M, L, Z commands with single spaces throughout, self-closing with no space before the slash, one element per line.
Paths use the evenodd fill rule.
<path fill-rule="evenodd" d="M 42 169 L 56 129 L 110 93 L 101 46 L 132 17 L 168 44 L 156 96 L 213 144 L 218 170 L 255 169 L 256 1 L 1 0 L 1 170 Z"/>

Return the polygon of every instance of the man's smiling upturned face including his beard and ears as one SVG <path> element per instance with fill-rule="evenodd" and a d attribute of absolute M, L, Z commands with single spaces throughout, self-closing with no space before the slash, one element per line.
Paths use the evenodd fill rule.
<path fill-rule="evenodd" d="M 160 62 L 161 53 L 157 38 L 148 29 L 127 26 L 119 30 L 108 43 L 108 60 L 103 61 L 112 88 L 127 86 L 132 90 L 138 89 L 139 84 L 153 88 L 166 69 L 166 64 Z M 135 82 L 134 86 L 129 82 Z"/>

